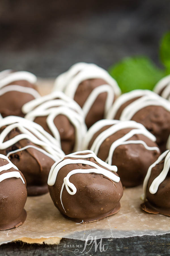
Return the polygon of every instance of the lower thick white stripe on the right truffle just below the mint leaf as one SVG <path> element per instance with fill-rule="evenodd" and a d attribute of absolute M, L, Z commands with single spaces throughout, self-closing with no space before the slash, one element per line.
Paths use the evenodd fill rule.
<path fill-rule="evenodd" d="M 120 120 L 130 120 L 135 113 L 148 106 L 162 106 L 170 111 L 170 103 L 160 96 L 143 96 L 129 104 L 121 113 Z"/>

